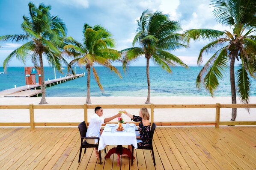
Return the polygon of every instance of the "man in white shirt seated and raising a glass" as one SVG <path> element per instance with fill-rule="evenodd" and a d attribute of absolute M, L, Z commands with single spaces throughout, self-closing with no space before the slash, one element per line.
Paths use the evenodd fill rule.
<path fill-rule="evenodd" d="M 101 107 L 95 107 L 95 114 L 92 116 L 91 121 L 89 123 L 89 127 L 86 132 L 86 137 L 99 137 L 103 132 L 101 128 L 101 124 L 112 121 L 114 118 L 121 117 L 122 113 L 118 113 L 110 118 L 102 118 L 103 109 Z M 96 139 L 86 139 L 86 142 L 89 144 L 98 144 L 98 140 Z M 97 158 L 99 158 L 98 148 L 95 148 L 95 153 Z"/>

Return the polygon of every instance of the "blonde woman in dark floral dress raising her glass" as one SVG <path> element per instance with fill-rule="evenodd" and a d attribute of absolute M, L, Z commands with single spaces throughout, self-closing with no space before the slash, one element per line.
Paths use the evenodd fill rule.
<path fill-rule="evenodd" d="M 139 123 L 139 130 L 140 135 L 137 136 L 138 139 L 140 138 L 150 138 L 150 121 L 149 121 L 149 110 L 146 107 L 140 109 L 139 116 L 131 115 L 128 112 L 124 112 L 125 115 L 131 118 L 132 121 L 140 121 Z M 149 146 L 149 140 L 137 140 L 138 146 Z M 132 145 L 128 145 L 128 149 L 132 149 Z"/>

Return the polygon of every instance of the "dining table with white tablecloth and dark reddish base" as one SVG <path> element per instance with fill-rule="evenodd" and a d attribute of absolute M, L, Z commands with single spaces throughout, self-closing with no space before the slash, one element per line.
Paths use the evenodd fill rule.
<path fill-rule="evenodd" d="M 125 124 L 122 126 L 124 130 L 117 131 L 118 124 L 106 124 L 98 144 L 98 150 L 103 150 L 107 145 L 117 145 L 117 147 L 111 148 L 105 156 L 105 158 L 110 158 L 112 154 L 116 153 L 117 166 L 120 164 L 120 156 L 127 155 L 130 159 L 132 158 L 131 151 L 128 148 L 122 147 L 122 145 L 132 144 L 135 149 L 138 147 L 136 135 L 139 132 L 135 131 L 137 129 L 136 125 L 131 123 L 128 127 Z M 114 127 L 112 132 L 111 127 Z"/>

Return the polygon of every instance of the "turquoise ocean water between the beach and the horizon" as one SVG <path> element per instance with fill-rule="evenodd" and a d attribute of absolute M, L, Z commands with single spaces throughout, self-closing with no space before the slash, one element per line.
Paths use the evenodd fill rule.
<path fill-rule="evenodd" d="M 68 72 L 63 67 L 63 73 L 56 71 L 56 78 L 64 77 Z M 147 78 L 145 66 L 129 67 L 125 73 L 122 67 L 117 67 L 122 75 L 119 78 L 114 72 L 105 67 L 95 67 L 104 93 L 99 89 L 91 74 L 91 96 L 147 96 Z M 149 69 L 151 96 L 210 96 L 202 87 L 196 89 L 196 77 L 202 67 L 191 66 L 189 69 L 172 67 L 172 73 L 167 73 L 157 66 Z M 3 67 L 0 67 L 3 72 Z M 86 69 L 76 67 L 76 73 L 85 72 L 85 76 L 71 81 L 66 81 L 46 88 L 47 97 L 85 97 L 86 96 Z M 92 72 L 91 72 L 92 73 Z M 54 79 L 54 68 L 45 67 L 45 80 Z M 36 80 L 38 82 L 38 79 Z M 223 80 L 215 92 L 215 96 L 230 96 L 229 71 L 224 74 Z M 24 67 L 8 67 L 5 74 L 0 74 L 0 91 L 14 88 L 16 85 L 24 86 Z M 256 96 L 256 80 L 251 78 L 251 96 Z"/>

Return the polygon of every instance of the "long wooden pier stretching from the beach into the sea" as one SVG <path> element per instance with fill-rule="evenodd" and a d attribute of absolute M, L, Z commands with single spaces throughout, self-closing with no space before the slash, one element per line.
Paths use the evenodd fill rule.
<path fill-rule="evenodd" d="M 56 84 L 64 83 L 65 81 L 70 81 L 75 78 L 80 78 L 82 76 L 84 76 L 84 74 L 76 74 L 76 75 L 66 76 L 63 78 L 48 80 L 48 81 L 45 81 L 45 87 L 54 86 Z M 25 86 L 19 86 L 12 89 L 6 89 L 0 92 L 0 97 L 31 97 L 31 96 L 42 93 L 41 89 L 36 89 L 36 88 L 41 88 L 41 84 L 38 84 L 38 83 L 28 84 Z"/>

